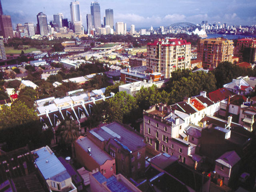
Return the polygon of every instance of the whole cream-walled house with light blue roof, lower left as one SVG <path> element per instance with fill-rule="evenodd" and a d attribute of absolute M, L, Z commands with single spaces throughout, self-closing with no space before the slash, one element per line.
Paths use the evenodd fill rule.
<path fill-rule="evenodd" d="M 35 165 L 50 191 L 77 192 L 70 174 L 48 146 L 32 153 L 35 156 Z"/>

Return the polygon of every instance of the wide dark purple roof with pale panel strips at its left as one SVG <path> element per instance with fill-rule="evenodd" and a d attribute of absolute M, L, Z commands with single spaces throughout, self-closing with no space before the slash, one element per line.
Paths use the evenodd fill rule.
<path fill-rule="evenodd" d="M 118 122 L 94 128 L 90 133 L 101 141 L 112 139 L 130 153 L 146 146 L 142 136 Z"/>

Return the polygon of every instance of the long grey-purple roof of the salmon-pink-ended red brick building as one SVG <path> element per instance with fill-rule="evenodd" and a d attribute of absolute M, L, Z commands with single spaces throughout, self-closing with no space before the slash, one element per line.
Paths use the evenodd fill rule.
<path fill-rule="evenodd" d="M 113 160 L 113 158 L 108 155 L 104 150 L 100 149 L 94 142 L 92 142 L 87 137 L 80 137 L 76 142 L 84 149 L 84 151 L 88 152 L 88 148 L 91 148 L 90 155 L 91 157 L 99 164 L 103 165 L 107 160 Z"/>

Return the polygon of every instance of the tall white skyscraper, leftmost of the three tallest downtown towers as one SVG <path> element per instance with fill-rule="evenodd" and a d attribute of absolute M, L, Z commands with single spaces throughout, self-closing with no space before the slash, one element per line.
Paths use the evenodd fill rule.
<path fill-rule="evenodd" d="M 80 15 L 80 4 L 78 1 L 70 3 L 70 14 L 71 14 L 71 23 L 72 29 L 75 34 L 82 34 L 82 19 Z"/>

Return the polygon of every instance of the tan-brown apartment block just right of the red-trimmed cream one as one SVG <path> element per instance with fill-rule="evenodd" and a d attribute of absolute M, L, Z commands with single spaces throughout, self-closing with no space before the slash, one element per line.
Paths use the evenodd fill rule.
<path fill-rule="evenodd" d="M 232 62 L 234 43 L 223 38 L 202 39 L 197 46 L 197 58 L 204 68 L 216 68 L 220 62 Z"/>

